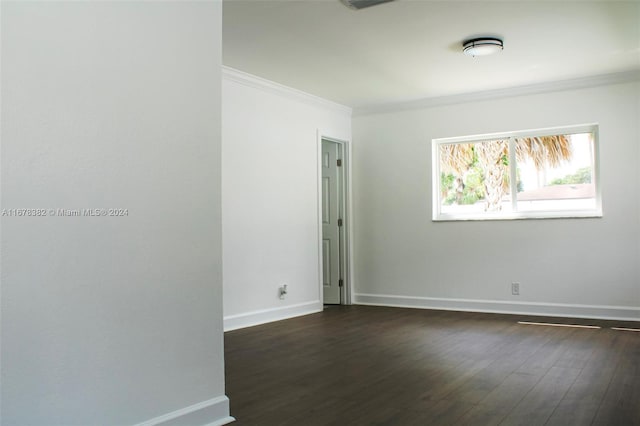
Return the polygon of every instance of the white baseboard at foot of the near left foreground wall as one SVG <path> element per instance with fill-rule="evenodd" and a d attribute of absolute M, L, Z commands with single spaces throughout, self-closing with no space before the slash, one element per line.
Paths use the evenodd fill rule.
<path fill-rule="evenodd" d="M 172 411 L 135 426 L 222 426 L 235 421 L 229 415 L 229 398 L 225 395 Z"/>

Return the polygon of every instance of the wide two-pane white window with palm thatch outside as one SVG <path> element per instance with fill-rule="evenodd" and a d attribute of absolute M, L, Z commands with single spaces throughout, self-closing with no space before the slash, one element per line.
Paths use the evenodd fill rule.
<path fill-rule="evenodd" d="M 595 124 L 432 145 L 433 220 L 602 216 Z"/>

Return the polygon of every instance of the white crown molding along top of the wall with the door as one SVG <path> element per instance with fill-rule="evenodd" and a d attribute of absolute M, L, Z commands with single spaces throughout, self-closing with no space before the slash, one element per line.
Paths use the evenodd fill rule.
<path fill-rule="evenodd" d="M 347 114 L 351 116 L 351 113 L 353 112 L 352 108 L 348 106 L 341 105 L 318 96 L 310 95 L 309 93 L 301 90 L 293 89 L 224 65 L 222 66 L 222 79 L 242 84 L 243 86 L 252 87 L 254 89 L 264 90 L 271 94 L 283 96 L 339 114 Z"/>

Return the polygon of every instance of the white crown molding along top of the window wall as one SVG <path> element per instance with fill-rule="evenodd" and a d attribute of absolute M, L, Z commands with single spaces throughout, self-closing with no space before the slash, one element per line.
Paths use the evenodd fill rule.
<path fill-rule="evenodd" d="M 361 108 L 354 108 L 353 116 L 359 117 L 387 112 L 425 109 L 444 105 L 486 101 L 514 96 L 536 95 L 541 93 L 560 92 L 564 90 L 584 89 L 589 87 L 630 83 L 635 81 L 640 81 L 640 70 L 603 74 L 592 77 L 576 78 L 572 80 L 560 80 L 547 83 L 531 84 L 527 86 L 510 87 L 506 89 L 487 90 L 483 92 L 424 98 L 407 102 L 365 106 Z"/>

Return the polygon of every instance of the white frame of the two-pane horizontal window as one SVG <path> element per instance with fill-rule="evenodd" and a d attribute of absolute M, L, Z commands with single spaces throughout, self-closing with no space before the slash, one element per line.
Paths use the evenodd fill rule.
<path fill-rule="evenodd" d="M 543 210 L 517 211 L 517 182 L 515 158 L 515 139 L 522 137 L 552 136 L 575 133 L 593 133 L 593 180 L 595 184 L 596 207 L 580 210 Z M 440 195 L 440 150 L 441 145 L 458 143 L 475 143 L 487 140 L 509 139 L 509 185 L 511 187 L 512 212 L 473 212 L 473 213 L 443 213 L 440 211 L 442 200 Z M 535 130 L 519 130 L 514 132 L 491 133 L 484 135 L 461 136 L 453 138 L 438 138 L 431 140 L 432 158 L 432 204 L 433 221 L 465 221 L 465 220 L 512 220 L 512 219 L 555 219 L 555 218 L 593 218 L 602 217 L 602 192 L 600 185 L 600 151 L 598 124 L 581 124 L 577 126 L 551 127 Z"/>

